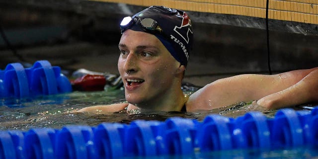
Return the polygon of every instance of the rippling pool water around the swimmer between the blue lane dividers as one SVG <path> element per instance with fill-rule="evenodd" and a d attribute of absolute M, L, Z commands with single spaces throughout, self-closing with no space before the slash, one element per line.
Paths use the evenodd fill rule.
<path fill-rule="evenodd" d="M 187 88 L 185 94 L 195 92 L 197 88 Z M 249 111 L 261 111 L 273 117 L 275 110 L 266 110 L 251 102 L 239 103 L 210 111 L 201 112 L 154 112 L 148 110 L 120 111 L 115 113 L 77 113 L 80 108 L 93 105 L 106 105 L 125 102 L 124 90 L 106 89 L 105 91 L 73 91 L 71 93 L 37 96 L 28 99 L 1 99 L 0 130 L 23 130 L 50 127 L 61 129 L 65 125 L 96 126 L 102 122 L 130 123 L 136 119 L 164 121 L 179 116 L 202 121 L 208 114 L 216 113 L 228 117 L 244 115 Z"/>

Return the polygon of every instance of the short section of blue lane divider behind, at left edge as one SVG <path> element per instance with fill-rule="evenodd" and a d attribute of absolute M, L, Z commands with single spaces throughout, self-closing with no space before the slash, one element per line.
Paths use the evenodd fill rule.
<path fill-rule="evenodd" d="M 71 92 L 72 86 L 60 67 L 48 61 L 37 61 L 24 69 L 20 63 L 8 64 L 0 70 L 0 97 L 23 98 Z"/>

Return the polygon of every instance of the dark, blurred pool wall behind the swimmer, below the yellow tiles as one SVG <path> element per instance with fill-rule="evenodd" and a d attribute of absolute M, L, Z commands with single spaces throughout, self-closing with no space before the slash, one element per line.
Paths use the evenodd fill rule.
<path fill-rule="evenodd" d="M 49 60 L 71 73 L 85 68 L 118 74 L 120 20 L 143 6 L 86 0 L 0 0 L 0 69 Z M 228 76 L 268 74 L 265 19 L 188 12 L 194 49 L 185 81 L 204 85 Z M 318 27 L 269 20 L 274 74 L 318 67 Z M 67 72 L 66 72 L 67 74 Z"/>

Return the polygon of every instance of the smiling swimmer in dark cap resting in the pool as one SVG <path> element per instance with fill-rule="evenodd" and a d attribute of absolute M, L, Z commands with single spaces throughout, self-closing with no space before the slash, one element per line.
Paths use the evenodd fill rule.
<path fill-rule="evenodd" d="M 120 28 L 118 71 L 127 103 L 91 106 L 79 112 L 116 112 L 125 108 L 191 112 L 252 100 L 277 109 L 318 101 L 318 68 L 219 79 L 187 97 L 181 90 L 193 43 L 187 13 L 151 6 L 125 17 Z"/>

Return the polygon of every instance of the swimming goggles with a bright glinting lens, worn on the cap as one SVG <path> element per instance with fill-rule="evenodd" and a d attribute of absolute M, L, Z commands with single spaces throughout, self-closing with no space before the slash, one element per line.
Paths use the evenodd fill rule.
<path fill-rule="evenodd" d="M 134 24 L 139 24 L 145 31 L 154 32 L 158 31 L 162 33 L 162 28 L 158 25 L 158 22 L 152 18 L 139 19 L 137 16 L 135 17 L 124 17 L 120 23 L 120 31 L 123 34 L 128 28 L 130 28 Z"/>

